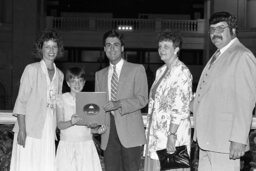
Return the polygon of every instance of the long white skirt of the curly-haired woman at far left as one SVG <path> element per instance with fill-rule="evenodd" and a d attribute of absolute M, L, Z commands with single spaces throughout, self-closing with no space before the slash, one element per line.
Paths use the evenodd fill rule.
<path fill-rule="evenodd" d="M 10 171 L 55 171 L 55 130 L 53 113 L 48 110 L 41 139 L 26 138 L 25 148 L 14 134 Z"/>

